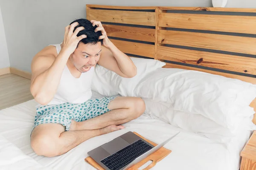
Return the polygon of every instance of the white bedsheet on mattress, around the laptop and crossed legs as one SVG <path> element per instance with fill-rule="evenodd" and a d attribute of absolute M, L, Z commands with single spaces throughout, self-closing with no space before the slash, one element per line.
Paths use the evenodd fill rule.
<path fill-rule="evenodd" d="M 233 149 L 227 150 L 223 144 L 188 133 L 143 114 L 140 118 L 126 123 L 123 130 L 97 136 L 81 143 L 62 156 L 47 158 L 37 156 L 30 147 L 30 133 L 35 118 L 35 105 L 36 102 L 31 100 L 0 111 L 0 136 L 2 136 L 0 143 L 3 140 L 5 140 L 4 142 L 9 141 L 10 144 L 14 144 L 13 146 L 20 150 L 19 153 L 24 153 L 42 166 L 55 170 L 94 170 L 84 161 L 84 158 L 88 156 L 87 152 L 128 131 L 136 131 L 156 143 L 163 142 L 177 131 L 181 131 L 179 135 L 165 145 L 166 148 L 172 150 L 172 153 L 157 163 L 152 170 L 238 170 L 239 153 L 251 134 L 250 131 L 244 131 L 238 136 L 237 142 L 233 144 Z M 5 152 L 0 150 L 0 156 L 4 156 Z M 12 152 L 12 150 L 9 150 L 9 152 Z M 27 161 L 19 161 L 16 164 L 22 165 L 19 167 L 29 167 L 31 165 Z M 38 166 L 38 168 L 41 167 Z M 3 169 L 1 164 L 0 169 Z"/>

